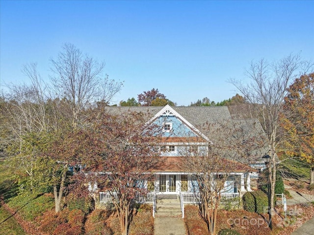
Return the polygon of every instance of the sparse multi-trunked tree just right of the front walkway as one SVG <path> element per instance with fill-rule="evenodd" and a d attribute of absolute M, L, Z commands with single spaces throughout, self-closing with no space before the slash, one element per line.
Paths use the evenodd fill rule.
<path fill-rule="evenodd" d="M 230 119 L 206 123 L 202 129 L 211 138 L 187 137 L 189 144 L 181 153 L 185 156 L 182 170 L 193 174 L 200 193 L 200 215 L 207 223 L 209 234 L 215 235 L 222 193 L 239 184 L 236 172 L 252 170 L 247 163 L 261 156 L 256 145 L 262 148 L 263 131 L 258 120 Z"/>

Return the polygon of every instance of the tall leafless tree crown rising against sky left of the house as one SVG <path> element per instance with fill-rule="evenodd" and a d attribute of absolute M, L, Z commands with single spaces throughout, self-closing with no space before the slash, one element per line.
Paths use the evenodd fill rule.
<path fill-rule="evenodd" d="M 104 62 L 98 62 L 72 44 L 64 44 L 57 59 L 51 59 L 52 85 L 67 105 L 72 126 L 78 124 L 84 109 L 92 104 L 108 104 L 122 87 L 121 82 L 102 77 Z M 102 101 L 102 102 L 99 102 Z"/>

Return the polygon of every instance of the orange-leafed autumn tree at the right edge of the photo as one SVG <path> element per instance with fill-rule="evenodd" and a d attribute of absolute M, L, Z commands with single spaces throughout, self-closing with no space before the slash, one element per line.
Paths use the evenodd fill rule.
<path fill-rule="evenodd" d="M 310 184 L 314 185 L 314 73 L 296 78 L 289 86 L 284 111 L 286 153 L 309 164 Z"/>

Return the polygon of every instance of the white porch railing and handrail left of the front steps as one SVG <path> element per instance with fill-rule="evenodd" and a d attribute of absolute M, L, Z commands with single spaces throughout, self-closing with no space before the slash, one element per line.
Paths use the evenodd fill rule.
<path fill-rule="evenodd" d="M 100 192 L 99 193 L 99 202 L 100 203 L 111 203 L 113 200 L 118 200 L 118 195 L 116 192 Z M 153 217 L 155 218 L 156 212 L 156 193 L 149 192 L 146 195 L 136 194 L 134 201 L 136 203 L 153 203 Z"/>

